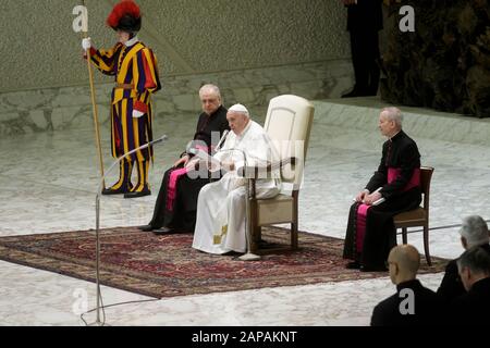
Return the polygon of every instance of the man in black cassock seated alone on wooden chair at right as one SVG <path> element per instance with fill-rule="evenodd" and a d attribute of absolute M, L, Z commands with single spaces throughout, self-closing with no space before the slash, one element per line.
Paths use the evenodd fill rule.
<path fill-rule="evenodd" d="M 402 130 L 402 120 L 397 108 L 380 113 L 379 128 L 388 140 L 378 170 L 351 207 L 343 257 L 354 262 L 347 268 L 384 271 L 388 253 L 396 245 L 393 216 L 420 204 L 420 153 Z M 384 201 L 373 206 L 380 198 Z"/>

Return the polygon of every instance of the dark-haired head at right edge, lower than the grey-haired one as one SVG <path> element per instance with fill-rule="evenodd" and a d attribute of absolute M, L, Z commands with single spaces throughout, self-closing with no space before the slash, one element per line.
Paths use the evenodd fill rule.
<path fill-rule="evenodd" d="M 457 259 L 457 271 L 466 291 L 469 291 L 476 282 L 490 277 L 490 253 L 478 246 L 467 249 Z"/>

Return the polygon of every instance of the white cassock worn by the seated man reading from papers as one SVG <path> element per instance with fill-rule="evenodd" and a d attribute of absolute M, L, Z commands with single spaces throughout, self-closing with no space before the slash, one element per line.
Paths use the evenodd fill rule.
<path fill-rule="evenodd" d="M 235 170 L 228 172 L 216 183 L 205 185 L 197 200 L 196 229 L 193 248 L 209 253 L 225 253 L 229 251 L 246 252 L 245 229 L 245 183 L 237 176 L 236 169 L 244 165 L 240 149 L 245 151 L 248 165 L 266 165 L 279 161 L 277 151 L 264 128 L 249 121 L 240 136 L 231 132 L 221 150 L 213 158 L 221 161 L 233 161 Z M 272 198 L 281 189 L 279 171 L 274 178 L 256 181 L 256 197 Z"/>

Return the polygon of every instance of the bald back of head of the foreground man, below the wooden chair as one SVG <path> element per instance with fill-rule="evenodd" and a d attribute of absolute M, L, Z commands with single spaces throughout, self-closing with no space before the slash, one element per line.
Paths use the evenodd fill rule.
<path fill-rule="evenodd" d="M 418 250 L 407 244 L 394 247 L 388 257 L 388 266 L 393 284 L 415 279 L 420 266 Z"/>

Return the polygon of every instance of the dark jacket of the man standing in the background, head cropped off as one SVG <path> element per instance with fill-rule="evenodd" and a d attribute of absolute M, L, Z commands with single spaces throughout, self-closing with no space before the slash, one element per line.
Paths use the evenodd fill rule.
<path fill-rule="evenodd" d="M 382 28 L 382 0 L 357 0 L 357 4 L 347 5 L 348 32 L 379 32 Z"/>

